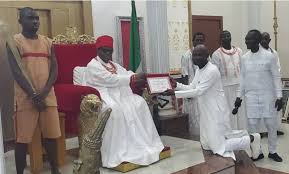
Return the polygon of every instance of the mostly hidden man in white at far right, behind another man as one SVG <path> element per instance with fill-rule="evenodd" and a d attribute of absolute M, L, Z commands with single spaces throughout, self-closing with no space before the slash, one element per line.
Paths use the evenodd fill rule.
<path fill-rule="evenodd" d="M 269 51 L 270 53 L 272 53 L 273 55 L 274 55 L 274 57 L 277 59 L 277 65 L 278 65 L 278 70 L 279 70 L 279 72 L 280 72 L 280 74 L 282 74 L 281 73 L 281 66 L 280 66 L 280 61 L 279 61 L 279 55 L 278 55 L 278 53 L 277 53 L 277 51 L 276 50 L 274 50 L 273 48 L 271 48 L 270 46 L 269 46 L 269 44 L 270 44 L 270 42 L 271 42 L 271 38 L 270 38 L 270 34 L 269 33 L 267 33 L 267 32 L 263 32 L 262 33 L 262 40 L 261 40 L 261 46 L 265 49 L 265 50 L 267 50 L 267 51 Z M 279 112 L 278 113 L 278 128 L 280 129 L 280 126 L 281 126 L 281 122 L 282 122 L 282 120 L 281 120 L 281 112 Z M 264 125 L 264 122 L 263 122 L 263 124 L 262 124 L 262 126 L 261 126 L 261 128 L 260 128 L 261 130 L 260 130 L 260 132 L 266 132 L 266 128 L 265 128 L 265 125 Z M 277 131 L 277 135 L 284 135 L 284 132 L 282 132 L 282 131 Z"/>

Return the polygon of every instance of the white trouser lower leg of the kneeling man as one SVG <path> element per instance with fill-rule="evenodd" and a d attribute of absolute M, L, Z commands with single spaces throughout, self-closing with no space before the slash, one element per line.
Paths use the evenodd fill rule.
<path fill-rule="evenodd" d="M 240 138 L 226 139 L 225 151 L 247 150 L 250 148 L 249 135 Z"/>

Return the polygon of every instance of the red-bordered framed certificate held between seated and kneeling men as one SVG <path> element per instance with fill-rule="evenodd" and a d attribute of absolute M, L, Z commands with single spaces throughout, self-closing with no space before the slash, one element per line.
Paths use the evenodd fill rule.
<path fill-rule="evenodd" d="M 162 93 L 168 89 L 172 89 L 169 76 L 148 76 L 147 77 L 148 89 L 151 94 Z"/>

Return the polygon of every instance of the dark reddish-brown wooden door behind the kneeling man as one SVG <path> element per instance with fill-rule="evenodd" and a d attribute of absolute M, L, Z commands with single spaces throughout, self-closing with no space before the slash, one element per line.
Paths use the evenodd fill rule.
<path fill-rule="evenodd" d="M 202 32 L 206 35 L 205 45 L 210 54 L 220 47 L 220 34 L 223 30 L 222 16 L 192 15 L 192 33 Z"/>

